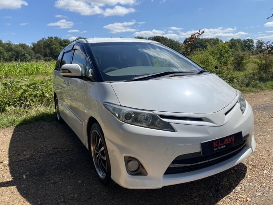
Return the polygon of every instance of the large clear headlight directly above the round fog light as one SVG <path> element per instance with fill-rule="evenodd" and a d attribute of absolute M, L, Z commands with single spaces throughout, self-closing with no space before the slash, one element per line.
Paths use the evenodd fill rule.
<path fill-rule="evenodd" d="M 161 120 L 158 115 L 154 114 L 152 111 L 137 110 L 110 103 L 104 103 L 104 106 L 122 122 L 151 129 L 174 132 L 174 129 L 168 122 Z"/>

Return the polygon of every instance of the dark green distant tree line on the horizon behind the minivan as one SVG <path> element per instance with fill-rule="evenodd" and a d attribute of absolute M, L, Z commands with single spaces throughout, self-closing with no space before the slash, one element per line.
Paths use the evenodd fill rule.
<path fill-rule="evenodd" d="M 149 38 L 136 37 L 141 39 L 149 39 L 166 44 L 177 51 L 192 55 L 196 51 L 206 50 L 208 47 L 217 46 L 220 43 L 224 43 L 228 46 L 228 49 L 237 52 L 252 52 L 252 53 L 273 53 L 273 43 L 264 42 L 258 40 L 256 45 L 253 39 L 230 39 L 228 42 L 223 42 L 218 38 L 199 38 L 203 33 L 194 33 L 191 37 L 186 38 L 183 43 L 175 41 L 163 36 L 154 36 Z M 80 39 L 83 37 L 79 37 Z M 53 61 L 56 60 L 60 51 L 70 44 L 68 39 L 61 39 L 59 37 L 42 38 L 41 40 L 33 43 L 31 46 L 19 43 L 13 44 L 12 42 L 2 42 L 0 40 L 0 62 L 12 62 L 12 61 Z"/>

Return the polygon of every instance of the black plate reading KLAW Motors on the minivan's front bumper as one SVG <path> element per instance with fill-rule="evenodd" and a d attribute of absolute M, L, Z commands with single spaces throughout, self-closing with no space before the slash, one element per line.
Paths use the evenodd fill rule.
<path fill-rule="evenodd" d="M 242 143 L 242 132 L 201 143 L 202 155 L 213 154 Z"/>

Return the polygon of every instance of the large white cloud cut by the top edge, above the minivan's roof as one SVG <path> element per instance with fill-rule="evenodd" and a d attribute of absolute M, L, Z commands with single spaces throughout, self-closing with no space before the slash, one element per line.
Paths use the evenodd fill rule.
<path fill-rule="evenodd" d="M 103 14 L 105 17 L 124 16 L 128 13 L 135 12 L 134 8 L 126 8 L 118 4 L 135 5 L 137 2 L 136 0 L 57 0 L 54 6 L 85 16 L 96 14 Z M 108 8 L 102 8 L 105 6 L 108 6 Z"/>

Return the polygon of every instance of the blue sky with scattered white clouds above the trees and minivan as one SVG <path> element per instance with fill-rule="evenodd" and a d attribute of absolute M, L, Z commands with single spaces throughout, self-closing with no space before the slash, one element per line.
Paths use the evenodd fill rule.
<path fill-rule="evenodd" d="M 165 36 L 273 40 L 272 0 L 2 0 L 0 40 Z"/>

